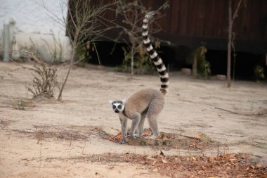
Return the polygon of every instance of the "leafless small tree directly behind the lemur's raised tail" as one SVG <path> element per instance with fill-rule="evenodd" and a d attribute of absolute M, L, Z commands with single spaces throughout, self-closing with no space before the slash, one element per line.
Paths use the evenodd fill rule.
<path fill-rule="evenodd" d="M 158 9 L 153 9 L 157 14 L 162 9 L 169 7 L 168 1 L 166 1 L 162 6 Z M 120 14 L 123 17 L 122 25 L 118 25 L 118 27 L 122 28 L 122 32 L 119 33 L 119 37 L 123 34 L 126 34 L 127 39 L 124 39 L 124 42 L 127 44 L 129 55 L 131 56 L 131 75 L 133 76 L 133 63 L 134 57 L 136 53 L 140 49 L 140 45 L 142 44 L 142 36 L 141 36 L 141 24 L 143 21 L 143 15 L 148 13 L 150 9 L 145 8 L 143 6 L 141 0 L 135 1 L 126 1 L 119 0 L 117 6 L 117 15 Z M 159 31 L 159 25 L 157 25 L 157 30 Z"/>

